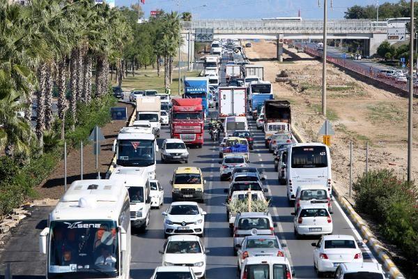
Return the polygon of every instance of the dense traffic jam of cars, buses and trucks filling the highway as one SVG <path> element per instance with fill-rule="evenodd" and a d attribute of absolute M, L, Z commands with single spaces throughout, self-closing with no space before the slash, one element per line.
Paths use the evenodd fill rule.
<path fill-rule="evenodd" d="M 298 278 L 300 250 L 314 273 L 300 278 L 385 278 L 364 259 L 355 229 L 335 233 L 347 217 L 332 195 L 330 149 L 298 142 L 291 103 L 273 93 L 263 66 L 249 63 L 238 40 L 215 40 L 203 68 L 184 78 L 183 96 L 130 93 L 134 119 L 111 146 L 107 179 L 72 183 L 40 233 L 47 278 L 149 278 L 130 273 L 138 251 L 159 253 L 150 278 L 214 278 L 208 258 L 222 257 L 208 248 L 220 237 L 215 217 L 230 243 L 218 253 L 233 255 L 234 270 L 218 278 Z M 283 236 L 281 207 L 291 208 L 293 242 Z M 154 251 L 134 245 L 156 239 Z M 293 250 L 296 241 L 304 242 Z"/>

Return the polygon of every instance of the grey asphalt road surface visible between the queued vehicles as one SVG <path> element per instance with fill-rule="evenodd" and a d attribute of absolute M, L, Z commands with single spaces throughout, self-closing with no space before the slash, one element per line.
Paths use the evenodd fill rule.
<path fill-rule="evenodd" d="M 223 68 L 221 69 L 221 75 Z M 224 77 L 224 76 L 223 76 Z M 211 112 L 214 115 L 215 112 Z M 264 147 L 263 133 L 256 130 L 254 121 L 250 121 L 250 127 L 254 133 L 254 151 L 250 153 L 250 165 L 262 169 L 265 174 L 265 186 L 272 197 L 270 213 L 276 223 L 275 233 L 282 243 L 286 243 L 286 255 L 295 269 L 295 278 L 317 278 L 313 266 L 312 242 L 318 237 L 308 239 L 296 239 L 293 234 L 293 207 L 288 203 L 286 197 L 286 186 L 280 186 L 277 181 L 277 172 L 274 172 L 272 154 Z M 164 138 L 169 137 L 169 128 L 162 128 L 161 137 L 158 140 L 162 143 Z M 205 133 L 205 143 L 202 149 L 189 149 L 189 165 L 200 167 L 205 179 L 205 204 L 201 206 L 208 213 L 206 216 L 206 227 L 204 245 L 208 252 L 206 278 L 236 278 L 237 258 L 233 256 L 233 239 L 229 236 L 229 224 L 226 220 L 226 207 L 224 206 L 226 194 L 224 188 L 228 182 L 219 180 L 219 153 L 217 142 L 210 140 L 210 135 Z M 160 154 L 157 154 L 160 158 Z M 148 229 L 144 234 L 132 232 L 132 278 L 149 278 L 153 269 L 162 264 L 162 257 L 158 250 L 162 250 L 164 244 L 163 217 L 161 213 L 168 209 L 171 202 L 171 180 L 173 170 L 185 164 L 157 162 L 157 179 L 164 187 L 164 206 L 155 209 L 151 213 L 151 220 Z M 350 234 L 360 240 L 359 234 L 353 229 L 353 225 L 343 214 L 341 207 L 333 202 L 334 234 Z M 45 256 L 37 252 L 38 234 L 46 225 L 47 213 L 51 208 L 36 208 L 33 216 L 23 220 L 22 225 L 13 232 L 13 238 L 1 251 L 0 269 L 4 272 L 6 262 L 13 263 L 13 275 L 17 278 L 43 278 L 45 275 Z M 369 250 L 363 248 L 364 259 L 370 261 Z"/>

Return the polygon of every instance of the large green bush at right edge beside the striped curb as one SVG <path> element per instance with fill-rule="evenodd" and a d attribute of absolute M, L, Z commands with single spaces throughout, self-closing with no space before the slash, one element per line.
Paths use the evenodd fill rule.
<path fill-rule="evenodd" d="M 371 216 L 385 239 L 400 248 L 417 269 L 418 190 L 415 183 L 399 179 L 392 170 L 380 169 L 360 176 L 353 183 L 353 190 L 357 210 Z"/>

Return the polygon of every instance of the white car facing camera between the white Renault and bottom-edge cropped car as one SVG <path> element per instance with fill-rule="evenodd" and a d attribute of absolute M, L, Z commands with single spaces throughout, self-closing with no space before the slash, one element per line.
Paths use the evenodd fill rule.
<path fill-rule="evenodd" d="M 206 270 L 206 252 L 199 236 L 170 236 L 164 244 L 163 266 L 191 266 L 196 278 L 203 278 Z"/>

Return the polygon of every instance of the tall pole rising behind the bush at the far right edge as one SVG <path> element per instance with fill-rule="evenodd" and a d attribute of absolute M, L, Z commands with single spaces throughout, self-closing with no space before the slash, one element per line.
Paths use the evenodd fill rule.
<path fill-rule="evenodd" d="M 412 181 L 412 102 L 414 101 L 414 0 L 411 1 L 410 21 L 410 88 L 408 103 L 408 181 Z"/>

